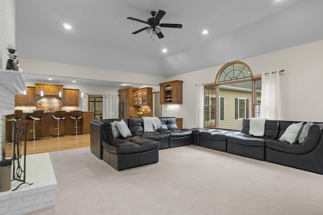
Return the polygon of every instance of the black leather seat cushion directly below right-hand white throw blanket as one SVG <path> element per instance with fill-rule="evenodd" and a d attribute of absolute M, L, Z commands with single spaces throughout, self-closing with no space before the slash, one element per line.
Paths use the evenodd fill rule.
<path fill-rule="evenodd" d="M 238 145 L 245 145 L 251 147 L 264 147 L 265 137 L 253 137 L 246 133 L 231 134 L 227 136 L 227 141 L 233 142 Z"/>

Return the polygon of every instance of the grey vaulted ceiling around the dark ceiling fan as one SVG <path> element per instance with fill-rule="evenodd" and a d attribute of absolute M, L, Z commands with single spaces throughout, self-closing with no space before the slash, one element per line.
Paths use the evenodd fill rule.
<path fill-rule="evenodd" d="M 321 0 L 16 0 L 16 47 L 22 58 L 172 77 L 321 40 L 322 8 Z M 165 37 L 154 40 L 131 34 L 147 24 L 127 17 L 146 21 L 158 10 L 160 23 L 183 28 L 161 27 Z"/>

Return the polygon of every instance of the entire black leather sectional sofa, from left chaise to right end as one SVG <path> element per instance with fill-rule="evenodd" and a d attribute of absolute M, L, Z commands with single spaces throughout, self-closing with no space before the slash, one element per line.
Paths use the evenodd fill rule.
<path fill-rule="evenodd" d="M 131 137 L 124 139 L 114 139 L 110 130 L 111 125 L 109 127 L 109 122 L 121 119 L 94 120 L 91 122 L 91 152 L 99 159 L 103 158 L 105 162 L 117 170 L 121 170 L 158 162 L 158 149 L 193 144 L 323 174 L 322 123 L 314 123 L 309 127 L 307 137 L 302 144 L 289 144 L 289 142 L 279 140 L 279 138 L 289 125 L 298 123 L 296 121 L 266 120 L 264 135 L 256 137 L 249 134 L 250 119 L 243 119 L 241 131 L 206 128 L 177 129 L 175 117 L 160 117 L 159 119 L 163 125 L 154 132 L 143 132 L 143 120 L 141 118 L 124 119 L 132 133 Z M 136 153 L 132 153 L 134 151 L 130 149 L 126 151 L 128 154 L 125 154 L 122 150 L 118 151 L 116 148 L 119 141 L 136 142 L 139 140 L 143 142 L 144 140 L 151 141 L 150 144 L 155 147 L 156 142 L 159 142 L 159 148 L 154 148 L 155 154 L 147 156 L 147 158 L 145 157 L 147 151 L 144 148 L 144 150 L 139 150 L 140 152 Z M 108 146 L 114 146 L 115 150 L 111 150 Z M 127 160 L 130 155 L 135 159 Z M 141 156 L 140 159 L 137 158 L 139 156 Z M 111 157 L 116 158 L 111 160 Z M 152 159 L 152 157 L 155 157 L 155 159 Z M 134 162 L 136 159 L 141 162 Z"/>

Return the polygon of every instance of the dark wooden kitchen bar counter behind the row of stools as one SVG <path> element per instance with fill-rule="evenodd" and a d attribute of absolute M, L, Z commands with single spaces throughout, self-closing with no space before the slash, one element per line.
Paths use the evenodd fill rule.
<path fill-rule="evenodd" d="M 33 120 L 26 119 L 31 113 L 22 113 L 22 119 L 27 122 L 27 139 L 32 139 L 33 132 Z M 53 112 L 44 112 L 42 119 L 35 121 L 36 138 L 42 136 L 54 136 L 57 135 L 57 120 L 52 118 Z M 29 118 L 29 117 L 28 117 Z M 83 117 L 78 121 L 78 133 L 89 133 L 90 122 L 93 121 L 93 112 L 83 112 Z M 23 126 L 23 123 L 18 123 L 16 127 Z M 12 139 L 12 121 L 6 122 L 6 139 Z M 60 121 L 60 134 L 61 135 L 72 135 L 76 131 L 75 119 L 70 117 L 70 112 L 66 113 L 66 118 Z"/>

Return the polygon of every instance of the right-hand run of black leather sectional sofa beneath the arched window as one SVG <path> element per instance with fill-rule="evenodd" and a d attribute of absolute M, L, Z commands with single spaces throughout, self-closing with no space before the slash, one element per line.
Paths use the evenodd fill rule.
<path fill-rule="evenodd" d="M 307 137 L 302 144 L 290 144 L 279 140 L 287 127 L 297 121 L 266 120 L 265 132 L 261 137 L 249 134 L 250 119 L 243 119 L 241 132 L 224 132 L 218 129 L 200 129 L 199 146 L 206 147 L 203 139 L 217 135 L 207 148 L 215 149 L 227 138 L 226 152 L 289 166 L 309 172 L 323 174 L 323 124 L 314 123 L 308 129 Z M 195 128 L 194 130 L 198 130 Z M 217 131 L 218 130 L 218 131 Z M 213 133 L 213 135 L 211 135 Z M 222 135 L 222 137 L 220 137 Z M 219 148 L 219 146 L 217 146 Z"/>

